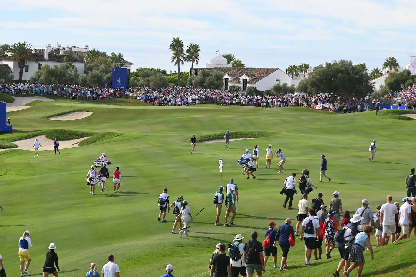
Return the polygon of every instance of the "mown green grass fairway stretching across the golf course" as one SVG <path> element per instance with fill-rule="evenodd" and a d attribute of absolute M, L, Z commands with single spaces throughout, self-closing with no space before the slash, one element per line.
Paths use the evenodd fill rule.
<path fill-rule="evenodd" d="M 406 196 L 404 178 L 415 167 L 416 121 L 402 120 L 405 117 L 397 111 L 382 110 L 380 116 L 375 111 L 339 115 L 299 107 L 153 107 L 139 105 L 141 102 L 134 99 L 73 103 L 72 99 L 54 99 L 57 101 L 35 101 L 31 108 L 7 113 L 13 132 L 0 134 L 0 148 L 13 147 L 10 142 L 39 134 L 59 140 L 92 137 L 80 147 L 62 149 L 57 155 L 45 147 L 39 157 L 26 150 L 0 151 L 0 204 L 4 209 L 0 214 L 0 254 L 8 276 L 20 274 L 17 242 L 25 230 L 30 230 L 34 245 L 29 250 L 31 276 L 41 276 L 47 247 L 53 242 L 57 245 L 59 276 L 85 276 L 91 262 L 96 262 L 101 272 L 107 255 L 113 254 L 123 277 L 158 277 L 167 264 L 173 265 L 174 276 L 193 277 L 209 270 L 217 243 L 231 243 L 236 234 L 242 234 L 245 242 L 253 230 L 262 241 L 269 221 L 278 228 L 285 218 L 292 218 L 292 226 L 296 226 L 297 209 L 284 209 L 284 196 L 279 194 L 292 172 L 298 174 L 298 180 L 303 168 L 310 170 L 318 189 L 312 191 L 309 203 L 322 192 L 324 203 L 329 205 L 333 191 L 339 191 L 344 211 L 354 213 L 366 198 L 375 213 L 386 195 L 391 194 L 393 201 Z M 132 105 L 133 101 L 137 105 Z M 93 114 L 71 121 L 47 119 L 79 110 Z M 198 141 L 201 137 L 210 140 L 222 138 L 227 129 L 231 137 L 235 133 L 235 137 L 257 138 L 231 141 L 228 149 L 223 142 L 197 143 L 196 154 L 190 154 L 192 134 Z M 373 139 L 378 147 L 376 162 L 368 160 Z M 286 155 L 283 174 L 277 173 L 276 156 L 272 169 L 264 168 L 269 143 L 273 150 L 282 149 Z M 246 148 L 253 153 L 255 145 L 260 149 L 260 168 L 255 172 L 257 179 L 246 180 L 237 160 Z M 85 177 L 102 152 L 112 162 L 110 175 L 120 167 L 121 192 L 113 193 L 109 178 L 106 191 L 101 193 L 97 186 L 92 196 Z M 326 179 L 317 182 L 321 154 L 328 160 L 331 183 Z M 213 197 L 220 186 L 220 157 L 224 161 L 222 184 L 234 178 L 240 194 L 236 226 L 228 228 L 214 226 Z M 157 200 L 165 187 L 170 203 L 181 195 L 189 201 L 193 216 L 204 208 L 191 224 L 189 238 L 171 233 L 172 213 L 166 214 L 166 223 L 157 220 Z M 295 194 L 295 208 L 299 200 L 300 194 Z M 225 208 L 221 223 L 224 216 Z M 373 235 L 375 259 L 371 261 L 365 252 L 363 276 L 409 276 L 414 258 L 406 252 L 415 242 L 412 236 L 411 240 L 375 249 Z M 324 247 L 323 243 L 323 252 Z M 278 265 L 281 254 L 278 248 Z M 337 249 L 332 257 L 327 260 L 323 253 L 323 260 L 312 258 L 306 276 L 332 276 L 339 262 Z M 288 270 L 277 272 L 269 259 L 263 276 L 305 275 L 305 244 L 298 237 L 287 264 Z M 355 274 L 354 270 L 351 276 Z"/>

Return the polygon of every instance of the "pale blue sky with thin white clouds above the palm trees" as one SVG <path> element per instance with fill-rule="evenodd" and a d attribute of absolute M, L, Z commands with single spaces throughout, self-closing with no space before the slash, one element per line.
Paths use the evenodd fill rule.
<path fill-rule="evenodd" d="M 168 50 L 173 37 L 185 47 L 201 47 L 196 67 L 205 67 L 218 49 L 248 67 L 283 70 L 339 59 L 381 69 L 388 56 L 406 66 L 416 55 L 414 0 L 0 0 L 0 5 L 0 44 L 88 44 L 108 54 L 121 52 L 133 69 L 175 71 Z"/>

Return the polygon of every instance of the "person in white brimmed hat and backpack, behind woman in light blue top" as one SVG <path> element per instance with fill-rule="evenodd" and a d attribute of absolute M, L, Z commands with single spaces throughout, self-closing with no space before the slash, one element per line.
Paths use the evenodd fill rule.
<path fill-rule="evenodd" d="M 344 233 L 344 239 L 339 243 L 337 242 L 339 254 L 341 255 L 341 261 L 338 264 L 337 270 L 333 273 L 334 277 L 339 276 L 339 272 L 341 271 L 342 267 L 344 267 L 344 271 L 347 271 L 349 268 L 349 253 L 345 251 L 345 243 L 355 238 L 355 235 L 357 234 L 357 226 L 360 224 L 362 219 L 363 218 L 359 214 L 354 214 L 351 222 L 343 227 L 346 229 Z"/>

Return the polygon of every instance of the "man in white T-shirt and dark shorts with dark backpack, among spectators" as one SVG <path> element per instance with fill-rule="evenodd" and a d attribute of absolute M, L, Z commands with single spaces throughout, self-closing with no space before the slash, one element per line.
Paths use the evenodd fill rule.
<path fill-rule="evenodd" d="M 311 223 L 309 223 L 311 221 Z M 309 228 L 310 227 L 310 228 Z M 302 223 L 302 229 L 300 231 L 300 241 L 304 240 L 305 234 L 305 257 L 306 264 L 305 266 L 310 266 L 310 258 L 312 256 L 312 250 L 315 247 L 316 241 L 319 240 L 319 220 L 315 218 L 315 210 L 308 210 L 308 217 Z"/>

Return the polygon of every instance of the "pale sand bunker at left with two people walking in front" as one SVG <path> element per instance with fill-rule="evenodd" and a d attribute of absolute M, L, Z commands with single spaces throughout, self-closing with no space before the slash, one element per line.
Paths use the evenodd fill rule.
<path fill-rule="evenodd" d="M 59 140 L 59 149 L 77 147 L 79 146 L 78 143 L 81 142 L 82 140 L 85 140 L 86 138 L 89 138 L 89 137 L 81 137 L 75 140 Z M 32 151 L 33 143 L 35 142 L 36 139 L 40 142 L 40 145 L 42 146 L 42 147 L 39 147 L 40 151 L 54 149 L 53 147 L 54 140 L 50 140 L 44 135 L 40 135 L 36 137 L 30 137 L 25 140 L 16 140 L 13 142 L 14 144 L 17 144 L 16 148 L 0 149 L 0 151 L 10 150 L 10 149 L 22 149 L 22 150 Z"/>

